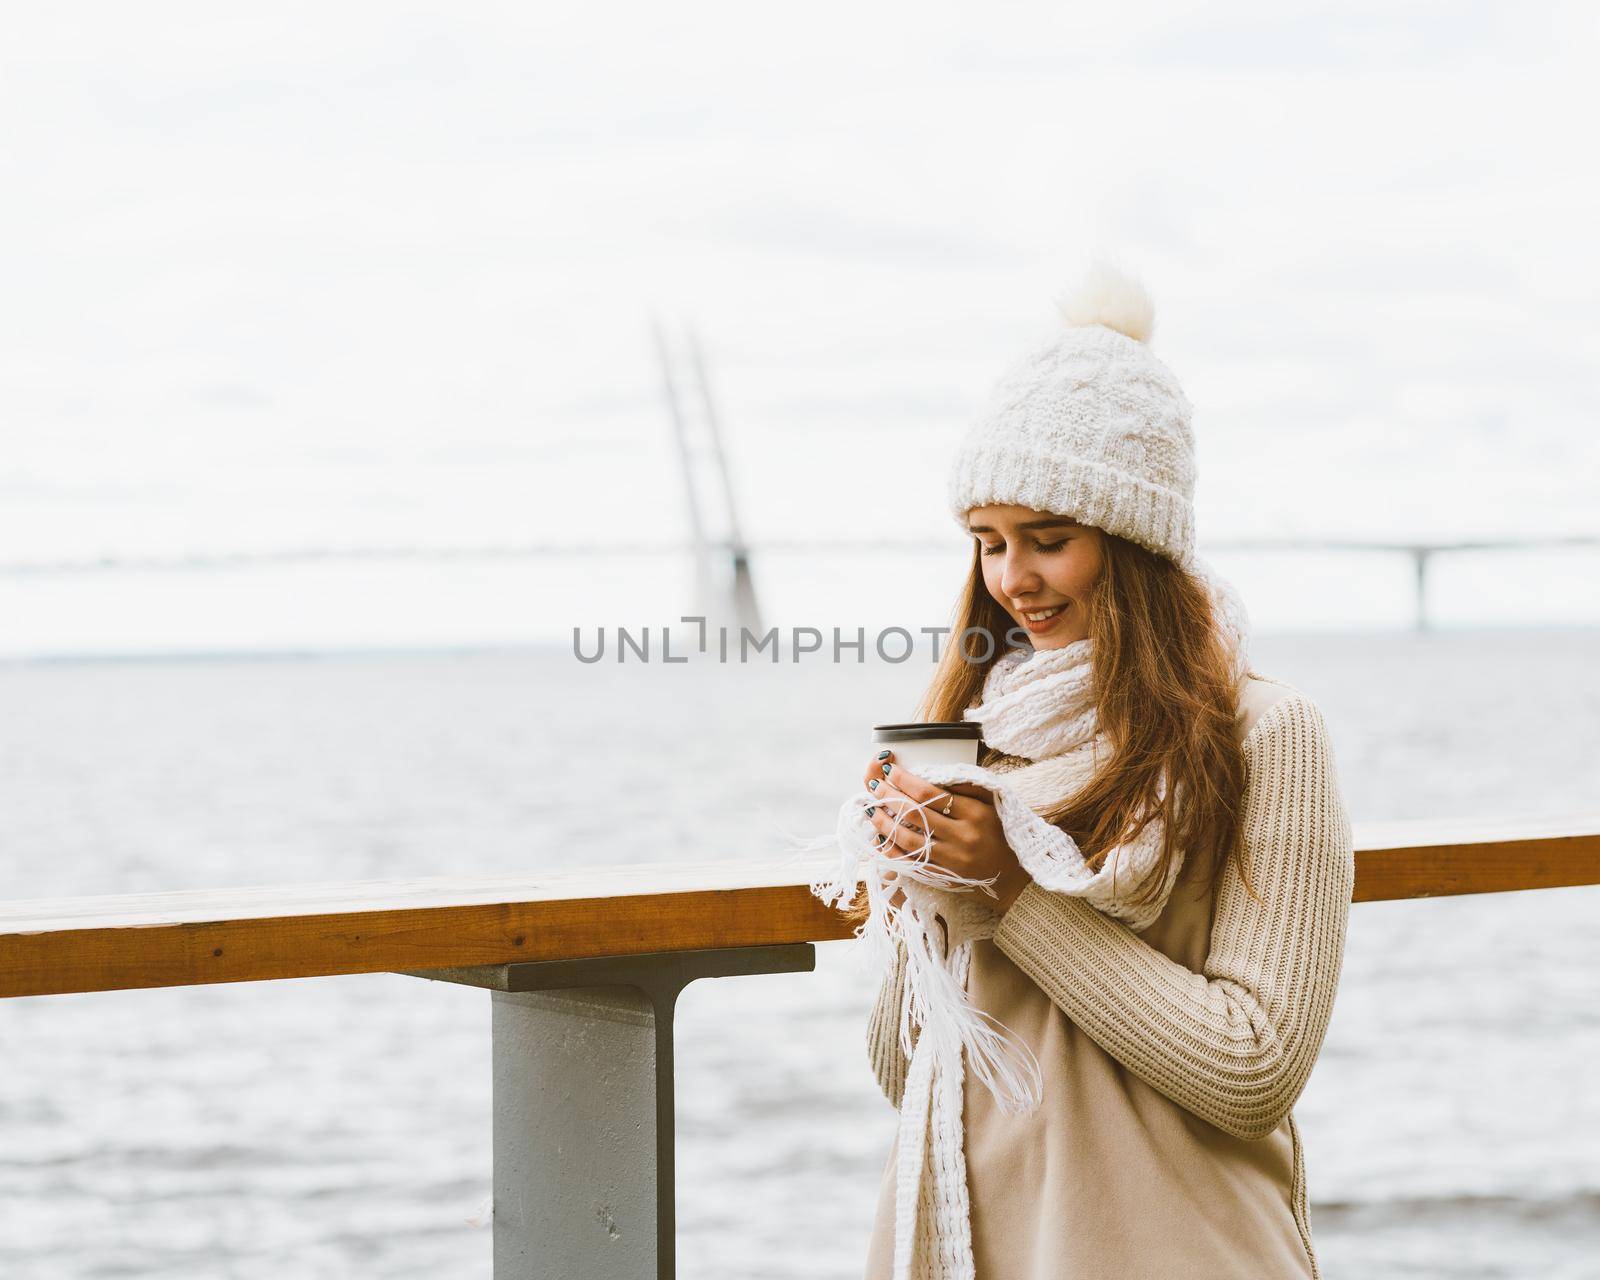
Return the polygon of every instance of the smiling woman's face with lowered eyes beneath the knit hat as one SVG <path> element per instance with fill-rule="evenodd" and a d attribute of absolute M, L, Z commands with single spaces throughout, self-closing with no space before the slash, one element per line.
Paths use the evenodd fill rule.
<path fill-rule="evenodd" d="M 1098 528 L 1014 506 L 973 507 L 966 528 L 979 542 L 984 586 L 1035 650 L 1088 638 L 1090 589 L 1106 566 Z M 1042 613 L 1048 616 L 1034 621 Z"/>

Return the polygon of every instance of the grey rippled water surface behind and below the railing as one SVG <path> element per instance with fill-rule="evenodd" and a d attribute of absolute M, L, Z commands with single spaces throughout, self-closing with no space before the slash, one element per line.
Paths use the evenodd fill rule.
<path fill-rule="evenodd" d="M 1267 635 L 1357 822 L 1600 814 L 1600 634 Z M 925 666 L 0 667 L 3 893 L 773 858 Z M 680 1270 L 859 1274 L 893 1112 L 850 944 L 680 1003 Z M 486 1277 L 488 997 L 0 1002 L 0 1277 Z M 1600 1275 L 1600 891 L 1352 910 L 1296 1107 L 1328 1277 Z"/>

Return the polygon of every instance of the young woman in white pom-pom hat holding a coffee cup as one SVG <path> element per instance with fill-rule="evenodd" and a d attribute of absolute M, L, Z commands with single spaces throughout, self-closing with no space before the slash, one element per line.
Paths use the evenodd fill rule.
<path fill-rule="evenodd" d="M 982 723 L 979 763 L 1026 784 L 1086 872 L 1146 842 L 1147 874 L 1099 904 L 1043 888 L 989 789 L 867 763 L 882 853 L 992 878 L 992 896 L 947 899 L 987 925 L 946 944 L 970 946 L 971 1005 L 1026 1042 L 1043 1085 L 1013 1114 L 966 1072 L 957 1181 L 930 1170 L 915 1195 L 898 1154 L 936 1122 L 902 1109 L 867 1275 L 1317 1277 L 1291 1107 L 1354 883 L 1328 730 L 1248 669 L 1243 610 L 1194 555 L 1190 410 L 1149 350 L 1149 299 L 1098 269 L 1062 309 L 955 458 L 971 573 L 918 714 Z M 867 1027 L 896 1106 L 902 1018 L 917 1053 L 906 989 L 896 942 Z"/>

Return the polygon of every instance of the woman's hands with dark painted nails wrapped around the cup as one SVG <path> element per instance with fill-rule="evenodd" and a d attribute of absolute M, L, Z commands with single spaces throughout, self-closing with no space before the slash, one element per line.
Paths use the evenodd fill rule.
<path fill-rule="evenodd" d="M 989 790 L 970 782 L 936 787 L 896 765 L 893 752 L 882 752 L 867 765 L 862 784 L 874 797 L 867 819 L 878 832 L 877 843 L 891 858 L 920 850 L 926 829 L 933 835 L 930 864 L 968 880 L 998 877 L 994 883 L 995 910 L 1003 914 L 1011 909 L 1016 896 L 1027 886 L 1029 875 L 1006 843 L 1005 827 Z M 926 806 L 917 810 L 909 803 L 912 800 Z M 944 813 L 946 805 L 950 808 L 949 814 Z M 896 814 L 902 814 L 899 824 L 894 821 Z"/>

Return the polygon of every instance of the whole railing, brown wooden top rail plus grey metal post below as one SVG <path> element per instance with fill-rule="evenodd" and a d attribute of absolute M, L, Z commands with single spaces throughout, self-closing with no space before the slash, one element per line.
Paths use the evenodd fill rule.
<path fill-rule="evenodd" d="M 1357 824 L 1355 845 L 1358 902 L 1600 883 L 1600 814 Z M 677 995 L 698 978 L 810 970 L 813 942 L 848 938 L 805 870 L 650 864 L 11 902 L 0 995 L 382 971 L 488 987 L 496 1280 L 670 1280 Z"/>

